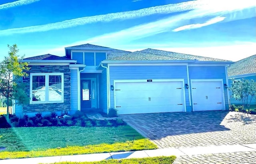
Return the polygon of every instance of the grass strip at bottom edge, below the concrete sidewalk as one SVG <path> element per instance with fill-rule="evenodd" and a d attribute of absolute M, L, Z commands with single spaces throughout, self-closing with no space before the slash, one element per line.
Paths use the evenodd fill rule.
<path fill-rule="evenodd" d="M 99 162 L 57 162 L 54 164 L 172 164 L 176 156 L 102 160 Z"/>

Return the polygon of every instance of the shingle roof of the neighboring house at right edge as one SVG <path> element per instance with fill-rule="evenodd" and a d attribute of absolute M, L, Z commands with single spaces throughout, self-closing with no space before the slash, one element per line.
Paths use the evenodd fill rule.
<path fill-rule="evenodd" d="M 236 61 L 228 67 L 228 76 L 256 73 L 256 55 Z"/>

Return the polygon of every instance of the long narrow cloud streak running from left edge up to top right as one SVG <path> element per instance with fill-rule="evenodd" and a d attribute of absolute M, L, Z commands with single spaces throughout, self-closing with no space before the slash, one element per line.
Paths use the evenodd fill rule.
<path fill-rule="evenodd" d="M 168 4 L 163 6 L 155 6 L 150 8 L 144 8 L 140 10 L 128 11 L 128 12 L 117 12 L 98 16 L 89 16 L 76 18 L 72 20 L 65 20 L 62 22 L 56 22 L 51 24 L 29 26 L 24 28 L 12 28 L 7 30 L 0 30 L 0 36 L 11 35 L 11 34 L 24 34 L 30 32 L 45 32 L 49 30 L 58 30 L 63 28 L 71 28 L 75 26 L 81 26 L 85 24 L 91 24 L 95 22 L 111 22 L 115 20 L 127 20 L 140 18 L 144 16 L 150 16 L 153 14 L 170 14 L 173 12 L 183 12 L 188 10 L 194 10 L 202 8 L 209 3 L 209 0 L 195 0 L 189 2 L 182 2 L 178 4 Z"/>

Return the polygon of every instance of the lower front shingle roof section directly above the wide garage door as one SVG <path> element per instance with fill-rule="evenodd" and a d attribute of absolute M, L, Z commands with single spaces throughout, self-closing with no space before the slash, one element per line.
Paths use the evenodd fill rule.
<path fill-rule="evenodd" d="M 108 60 L 186 60 L 180 57 L 172 57 L 166 55 L 156 55 L 152 53 L 145 53 L 141 51 L 135 51 L 126 53 L 120 56 L 108 57 Z"/>

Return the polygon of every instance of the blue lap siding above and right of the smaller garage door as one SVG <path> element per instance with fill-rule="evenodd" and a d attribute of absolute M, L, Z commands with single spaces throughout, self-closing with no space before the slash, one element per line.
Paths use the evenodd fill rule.
<path fill-rule="evenodd" d="M 226 84 L 225 69 L 225 66 L 189 66 L 188 73 L 190 79 L 222 79 L 223 84 Z M 224 98 L 226 108 L 228 108 L 228 93 L 226 88 L 224 88 Z"/>

